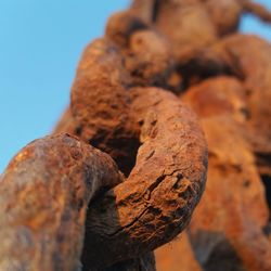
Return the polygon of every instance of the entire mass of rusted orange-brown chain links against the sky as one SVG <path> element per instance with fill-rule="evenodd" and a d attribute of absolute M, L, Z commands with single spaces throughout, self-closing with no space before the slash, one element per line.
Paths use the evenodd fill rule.
<path fill-rule="evenodd" d="M 17 238 L 10 232 L 21 222 L 12 222 L 11 229 L 0 233 L 5 241 L 3 250 L 15 255 L 11 261 L 17 268 L 14 270 L 27 264 L 35 270 L 41 262 L 37 259 L 43 262 L 42 257 L 48 257 L 46 270 L 155 270 L 153 249 L 188 227 L 205 186 L 206 142 L 197 118 L 180 99 L 201 118 L 210 150 L 210 170 L 203 201 L 180 240 L 184 243 L 167 254 L 168 264 L 175 262 L 178 253 L 180 271 L 271 269 L 271 52 L 268 42 L 236 34 L 244 13 L 271 22 L 270 12 L 248 0 L 137 0 L 108 20 L 105 37 L 91 42 L 82 54 L 70 104 L 54 131 L 76 134 L 82 141 L 62 134 L 37 141 L 44 145 L 33 143 L 38 144 L 37 154 L 46 150 L 46 155 L 66 142 L 60 140 L 62 137 L 68 138 L 68 142 L 89 149 L 86 157 L 92 155 L 93 163 L 82 160 L 73 167 L 75 172 L 66 172 L 73 164 L 68 158 L 72 145 L 64 147 L 64 155 L 59 150 L 60 154 L 51 157 L 53 164 L 42 155 L 35 156 L 30 165 L 24 164 L 24 151 L 18 154 L 23 162 L 15 158 L 13 163 L 28 169 L 24 173 L 27 184 L 36 185 L 39 172 L 49 181 L 52 189 L 49 185 L 44 191 L 50 190 L 46 195 L 53 195 L 52 203 L 59 193 L 55 183 L 70 177 L 68 188 L 61 191 L 66 197 L 56 211 L 44 211 L 48 205 L 34 189 L 30 195 L 41 201 L 41 206 L 28 208 L 27 197 L 27 208 L 14 208 L 17 212 L 12 219 L 22 216 L 27 229 L 40 225 L 31 232 L 37 247 L 44 243 L 38 233 L 48 230 L 42 223 L 64 214 L 64 222 L 50 232 L 54 242 L 42 245 L 48 254 L 40 256 L 40 250 L 31 247 L 30 254 L 37 253 L 38 258 L 29 257 L 25 247 L 14 253 Z M 109 156 L 88 144 L 108 153 L 127 178 Z M 93 169 L 91 176 L 89 167 Z M 16 185 L 21 169 L 13 170 L 8 169 L 2 178 L 14 178 L 15 182 L 1 185 L 11 185 L 9 193 L 15 195 L 21 193 Z M 105 182 L 103 173 L 108 173 Z M 50 180 L 48 175 L 52 175 Z M 95 188 L 86 184 L 89 177 Z M 86 195 L 82 201 L 76 197 L 78 191 Z M 4 204 L 9 205 L 12 196 L 3 196 Z M 20 201 L 24 206 L 24 197 Z M 69 204 L 77 206 L 68 209 L 76 219 L 66 221 Z M 5 220 L 5 210 L 2 223 L 13 221 Z M 39 210 L 44 216 L 35 215 Z M 66 231 L 68 227 L 70 231 Z M 60 229 L 64 237 L 59 236 Z M 69 234 L 77 237 L 73 240 Z M 27 242 L 22 244 L 27 247 Z M 3 264 L 9 263 L 5 259 Z M 158 270 L 164 271 L 159 258 L 157 262 Z M 164 269 L 173 270 L 165 264 Z"/>

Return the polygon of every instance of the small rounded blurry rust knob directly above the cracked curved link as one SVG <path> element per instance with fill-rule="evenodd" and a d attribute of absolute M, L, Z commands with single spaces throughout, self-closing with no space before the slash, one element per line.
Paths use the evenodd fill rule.
<path fill-rule="evenodd" d="M 155 30 L 140 30 L 131 35 L 126 50 L 126 68 L 133 86 L 167 87 L 175 68 L 168 40 Z"/>

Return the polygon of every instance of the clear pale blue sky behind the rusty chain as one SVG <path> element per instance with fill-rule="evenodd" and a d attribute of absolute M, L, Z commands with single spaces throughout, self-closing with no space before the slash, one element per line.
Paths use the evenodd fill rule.
<path fill-rule="evenodd" d="M 270 0 L 260 0 L 271 9 Z M 0 0 L 0 172 L 20 149 L 52 130 L 68 104 L 83 47 L 129 0 Z M 242 31 L 271 40 L 246 16 Z"/>

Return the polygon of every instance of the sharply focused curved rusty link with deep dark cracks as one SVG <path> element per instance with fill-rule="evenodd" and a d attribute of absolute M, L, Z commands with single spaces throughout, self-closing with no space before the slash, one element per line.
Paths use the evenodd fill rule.
<path fill-rule="evenodd" d="M 207 149 L 196 117 L 163 90 L 131 95 L 142 145 L 128 179 L 91 204 L 82 262 L 107 266 L 169 242 L 204 190 Z"/>

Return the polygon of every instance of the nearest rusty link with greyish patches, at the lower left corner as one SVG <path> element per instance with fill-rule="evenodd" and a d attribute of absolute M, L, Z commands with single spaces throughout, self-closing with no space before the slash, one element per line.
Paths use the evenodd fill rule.
<path fill-rule="evenodd" d="M 87 206 L 121 181 L 108 155 L 72 136 L 27 145 L 0 179 L 0 270 L 79 270 Z"/>

